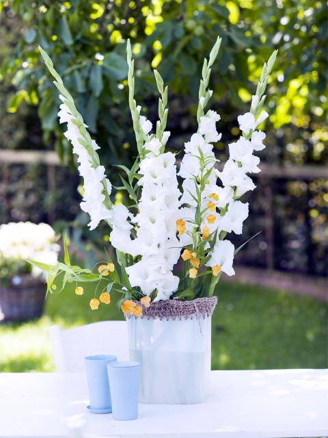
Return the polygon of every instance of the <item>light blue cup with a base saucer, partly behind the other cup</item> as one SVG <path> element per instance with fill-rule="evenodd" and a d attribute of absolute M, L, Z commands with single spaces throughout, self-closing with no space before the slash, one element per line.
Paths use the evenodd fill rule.
<path fill-rule="evenodd" d="M 95 355 L 84 358 L 87 371 L 87 387 L 92 413 L 111 413 L 111 392 L 109 390 L 107 363 L 117 361 L 116 356 Z"/>

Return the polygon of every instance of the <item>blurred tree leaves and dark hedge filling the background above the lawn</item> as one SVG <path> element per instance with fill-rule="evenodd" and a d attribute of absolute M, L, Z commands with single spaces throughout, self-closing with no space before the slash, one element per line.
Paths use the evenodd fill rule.
<path fill-rule="evenodd" d="M 158 68 L 169 84 L 172 137 L 168 146 L 179 151 L 196 129 L 202 59 L 219 34 L 222 47 L 210 84 L 211 107 L 222 117 L 218 127 L 224 143 L 216 145 L 219 159 L 226 159 L 226 144 L 238 136 L 236 118 L 249 107 L 263 62 L 279 49 L 267 92 L 271 116 L 265 126 L 268 147 L 262 160 L 288 167 L 327 163 L 324 2 L 0 0 L 0 7 L 1 103 L 8 106 L 0 120 L 2 148 L 55 149 L 74 172 L 72 149 L 57 120 L 59 99 L 40 60 L 40 44 L 64 77 L 92 136 L 102 146 L 102 164 L 119 185 L 111 164 L 128 165 L 136 154 L 127 104 L 126 39 L 131 38 L 136 58 L 137 102 L 147 107 L 150 120 L 156 119 L 157 110 L 152 68 Z M 327 270 L 328 186 L 313 169 L 312 181 L 258 180 L 258 190 L 247 198 L 256 218 L 245 227 L 250 237 L 265 227 L 267 184 L 271 184 L 276 269 L 320 275 Z M 27 172 L 16 167 L 10 186 L 3 185 L 7 200 L 0 209 L 3 222 L 46 219 L 55 222 L 58 231 L 67 221 L 77 227 L 85 224 L 87 219 L 79 214 L 76 175 L 57 170 L 58 181 L 64 178 L 66 187 L 59 183 L 49 192 L 44 170 L 36 165 Z M 24 208 L 22 198 L 27 199 Z M 121 200 L 119 193 L 117 201 Z M 98 236 L 83 228 L 85 234 L 103 246 Z M 261 267 L 266 253 L 267 242 L 260 237 L 238 260 Z"/>

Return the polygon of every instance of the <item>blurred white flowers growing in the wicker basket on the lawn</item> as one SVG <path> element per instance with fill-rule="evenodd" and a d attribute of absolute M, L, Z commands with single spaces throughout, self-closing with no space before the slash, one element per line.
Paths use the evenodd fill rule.
<path fill-rule="evenodd" d="M 59 245 L 55 231 L 48 224 L 10 222 L 0 225 L 0 283 L 5 285 L 14 275 L 42 276 L 40 266 L 31 266 L 27 259 L 57 263 Z"/>

